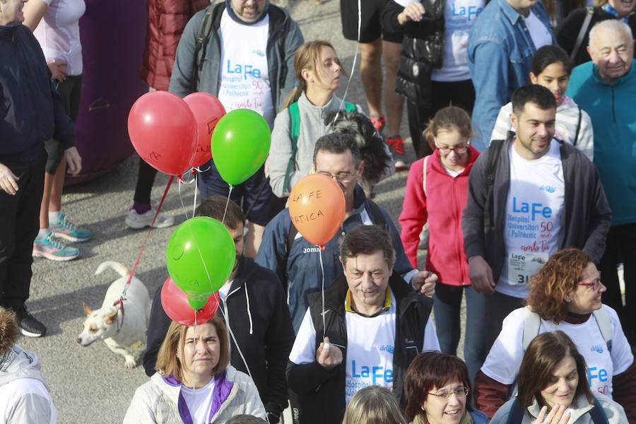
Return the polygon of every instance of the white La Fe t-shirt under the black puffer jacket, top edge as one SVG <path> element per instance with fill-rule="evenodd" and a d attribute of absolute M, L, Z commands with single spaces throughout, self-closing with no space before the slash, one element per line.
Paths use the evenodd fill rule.
<path fill-rule="evenodd" d="M 432 81 L 471 79 L 466 46 L 469 33 L 481 13 L 484 0 L 447 0 L 444 10 L 444 56 L 442 68 L 433 69 Z"/>

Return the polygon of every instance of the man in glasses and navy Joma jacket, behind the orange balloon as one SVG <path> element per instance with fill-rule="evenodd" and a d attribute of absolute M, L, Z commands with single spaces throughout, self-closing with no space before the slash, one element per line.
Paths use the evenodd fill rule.
<path fill-rule="evenodd" d="M 307 310 L 307 294 L 322 290 L 320 255 L 324 268 L 325 288 L 342 272 L 338 261 L 341 238 L 358 225 L 384 225 L 391 234 L 396 252 L 395 271 L 425 295 L 435 291 L 437 276 L 418 271 L 408 262 L 400 233 L 389 214 L 365 197 L 358 184 L 364 169 L 355 138 L 348 134 L 332 133 L 318 139 L 314 148 L 313 172 L 327 175 L 340 185 L 346 201 L 345 218 L 341 230 L 326 243 L 323 252 L 305 240 L 292 225 L 289 211 L 283 211 L 267 224 L 263 242 L 257 255 L 257 264 L 278 274 L 287 289 L 287 299 L 295 331 L 298 332 Z"/>

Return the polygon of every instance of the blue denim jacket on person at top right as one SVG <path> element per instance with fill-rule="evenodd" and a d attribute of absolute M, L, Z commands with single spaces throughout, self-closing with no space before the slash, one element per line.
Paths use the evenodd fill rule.
<path fill-rule="evenodd" d="M 531 11 L 546 25 L 554 42 L 541 0 Z M 510 102 L 514 90 L 528 83 L 534 52 L 536 48 L 524 17 L 506 0 L 490 1 L 479 14 L 468 45 L 469 70 L 476 94 L 473 146 L 478 151 L 488 147 L 500 108 Z"/>

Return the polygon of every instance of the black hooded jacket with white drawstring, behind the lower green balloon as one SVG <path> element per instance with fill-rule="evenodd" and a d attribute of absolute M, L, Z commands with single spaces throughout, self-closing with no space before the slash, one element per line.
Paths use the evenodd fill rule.
<path fill-rule="evenodd" d="M 242 257 L 228 298 L 220 303 L 227 311 L 230 329 L 245 356 L 265 409 L 276 415 L 287 407 L 285 364 L 294 342 L 282 287 L 275 273 L 259 266 L 252 258 Z M 161 288 L 158 288 L 148 324 L 146 353 L 143 354 L 143 367 L 148 376 L 155 373 L 157 353 L 168 326 L 170 318 L 163 311 Z M 247 373 L 233 340 L 230 363 Z"/>

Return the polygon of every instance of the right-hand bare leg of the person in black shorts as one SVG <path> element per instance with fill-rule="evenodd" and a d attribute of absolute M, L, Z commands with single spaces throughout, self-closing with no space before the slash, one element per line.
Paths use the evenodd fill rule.
<path fill-rule="evenodd" d="M 387 70 L 387 79 L 384 81 L 384 104 L 387 107 L 387 126 L 389 129 L 387 135 L 389 137 L 400 134 L 404 110 L 404 98 L 395 93 L 395 80 L 401 51 L 402 44 L 399 42 L 382 42 L 384 69 Z"/>

